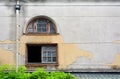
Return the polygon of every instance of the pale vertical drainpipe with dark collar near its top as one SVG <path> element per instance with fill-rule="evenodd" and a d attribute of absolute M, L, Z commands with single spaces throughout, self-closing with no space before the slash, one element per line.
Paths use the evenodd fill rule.
<path fill-rule="evenodd" d="M 16 71 L 18 71 L 19 67 L 19 28 L 20 28 L 20 2 L 17 0 L 15 5 L 16 11 Z"/>

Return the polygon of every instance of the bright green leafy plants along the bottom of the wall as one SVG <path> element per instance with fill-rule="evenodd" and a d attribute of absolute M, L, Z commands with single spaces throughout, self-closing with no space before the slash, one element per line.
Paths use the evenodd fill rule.
<path fill-rule="evenodd" d="M 54 71 L 46 72 L 43 68 L 33 73 L 26 72 L 26 67 L 20 66 L 18 71 L 9 65 L 0 66 L 0 79 L 76 79 L 70 73 Z"/>

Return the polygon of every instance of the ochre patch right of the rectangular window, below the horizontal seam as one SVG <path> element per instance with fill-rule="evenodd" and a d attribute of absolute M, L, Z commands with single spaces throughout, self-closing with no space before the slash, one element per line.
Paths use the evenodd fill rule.
<path fill-rule="evenodd" d="M 91 59 L 93 55 L 90 51 L 80 50 L 77 44 L 59 44 L 59 69 L 67 69 L 78 57 Z"/>

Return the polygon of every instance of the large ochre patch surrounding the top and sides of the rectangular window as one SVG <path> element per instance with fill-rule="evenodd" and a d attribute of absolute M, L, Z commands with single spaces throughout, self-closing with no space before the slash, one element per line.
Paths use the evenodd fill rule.
<path fill-rule="evenodd" d="M 86 57 L 91 59 L 92 53 L 90 51 L 80 50 L 77 44 L 64 43 L 61 35 L 51 36 L 28 36 L 23 35 L 20 39 L 20 51 L 21 55 L 26 54 L 26 44 L 58 44 L 58 69 L 67 69 L 67 66 L 77 60 L 78 57 Z"/>

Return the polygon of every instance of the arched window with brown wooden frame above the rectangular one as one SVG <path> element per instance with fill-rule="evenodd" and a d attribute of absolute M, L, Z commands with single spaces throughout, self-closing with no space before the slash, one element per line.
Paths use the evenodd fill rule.
<path fill-rule="evenodd" d="M 52 34 L 57 32 L 56 26 L 51 20 L 39 17 L 29 22 L 26 33 Z"/>

